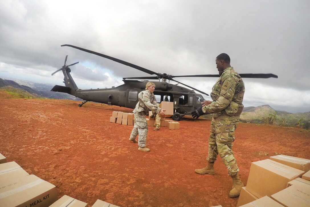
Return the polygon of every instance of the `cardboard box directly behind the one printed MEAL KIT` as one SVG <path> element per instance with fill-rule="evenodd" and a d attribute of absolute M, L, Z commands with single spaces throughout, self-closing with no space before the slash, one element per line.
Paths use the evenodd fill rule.
<path fill-rule="evenodd" d="M 0 188 L 7 181 L 29 175 L 23 168 L 15 162 L 0 164 Z"/>

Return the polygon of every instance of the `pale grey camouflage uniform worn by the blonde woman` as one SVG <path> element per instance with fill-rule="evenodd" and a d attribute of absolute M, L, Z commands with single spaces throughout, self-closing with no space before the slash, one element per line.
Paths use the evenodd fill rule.
<path fill-rule="evenodd" d="M 130 138 L 135 140 L 139 134 L 138 145 L 145 147 L 146 136 L 148 134 L 148 125 L 146 123 L 145 115 L 148 114 L 149 109 L 160 112 L 161 108 L 157 107 L 156 97 L 148 90 L 141 91 L 138 95 L 139 102 L 133 110 L 135 116 L 134 128 L 131 131 Z"/>

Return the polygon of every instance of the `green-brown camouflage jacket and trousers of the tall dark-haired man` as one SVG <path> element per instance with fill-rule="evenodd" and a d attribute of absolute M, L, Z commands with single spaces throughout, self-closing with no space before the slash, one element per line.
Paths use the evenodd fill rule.
<path fill-rule="evenodd" d="M 244 83 L 233 67 L 226 68 L 212 88 L 213 102 L 202 107 L 202 112 L 213 113 L 207 160 L 215 162 L 217 154 L 228 168 L 228 175 L 239 172 L 237 160 L 232 152 L 235 130 L 243 109 Z"/>

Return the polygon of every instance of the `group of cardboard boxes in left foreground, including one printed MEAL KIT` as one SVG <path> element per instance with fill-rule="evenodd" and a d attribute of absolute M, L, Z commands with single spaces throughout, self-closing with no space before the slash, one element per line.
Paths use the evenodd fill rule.
<path fill-rule="evenodd" d="M 88 204 L 68 195 L 57 200 L 56 186 L 35 175 L 29 175 L 16 162 L 6 162 L 0 154 L 0 206 L 20 207 L 87 207 Z M 97 200 L 94 207 L 116 205 Z"/>

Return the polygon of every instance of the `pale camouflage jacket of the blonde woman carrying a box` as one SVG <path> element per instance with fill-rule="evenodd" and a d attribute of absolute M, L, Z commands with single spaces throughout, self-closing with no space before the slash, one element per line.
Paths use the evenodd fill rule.
<path fill-rule="evenodd" d="M 157 113 L 162 110 L 157 107 L 156 97 L 153 93 L 148 90 L 141 91 L 138 94 L 139 102 L 135 106 L 133 113 L 135 113 L 135 119 L 138 122 L 146 122 L 145 115 L 148 114 L 149 110 L 155 111 Z"/>

